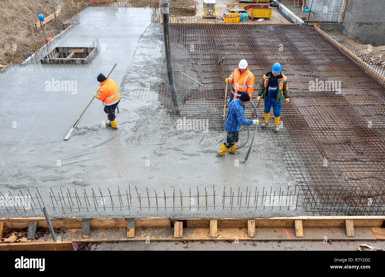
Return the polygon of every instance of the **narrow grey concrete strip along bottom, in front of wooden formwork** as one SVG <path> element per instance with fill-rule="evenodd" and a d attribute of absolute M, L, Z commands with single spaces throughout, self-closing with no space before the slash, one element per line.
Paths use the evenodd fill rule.
<path fill-rule="evenodd" d="M 360 244 L 385 248 L 385 241 L 258 241 L 238 243 L 224 241 L 195 242 L 102 242 L 92 244 L 91 250 L 347 250 L 355 251 Z"/>

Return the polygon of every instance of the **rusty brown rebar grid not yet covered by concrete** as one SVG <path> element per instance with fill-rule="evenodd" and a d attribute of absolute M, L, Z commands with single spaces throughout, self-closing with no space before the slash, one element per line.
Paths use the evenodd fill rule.
<path fill-rule="evenodd" d="M 208 119 L 211 130 L 223 130 L 224 79 L 239 60 L 254 73 L 254 103 L 262 75 L 280 62 L 290 103 L 282 104 L 280 133 L 258 132 L 283 147 L 288 170 L 306 194 L 306 211 L 385 214 L 384 84 L 361 65 L 309 27 L 172 25 L 170 41 L 181 115 Z M 165 68 L 159 58 L 159 100 L 172 109 Z"/>

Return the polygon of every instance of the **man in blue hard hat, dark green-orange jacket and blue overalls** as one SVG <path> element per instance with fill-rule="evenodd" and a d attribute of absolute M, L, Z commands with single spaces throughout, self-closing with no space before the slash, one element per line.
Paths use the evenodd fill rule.
<path fill-rule="evenodd" d="M 271 68 L 271 71 L 263 75 L 261 83 L 259 83 L 258 98 L 264 98 L 264 123 L 261 124 L 262 128 L 266 128 L 269 122 L 269 114 L 271 106 L 273 106 L 274 113 L 274 131 L 278 132 L 280 128 L 278 123 L 281 117 L 281 99 L 285 99 L 286 103 L 289 102 L 288 82 L 286 76 L 281 73 L 281 65 L 275 63 Z"/>

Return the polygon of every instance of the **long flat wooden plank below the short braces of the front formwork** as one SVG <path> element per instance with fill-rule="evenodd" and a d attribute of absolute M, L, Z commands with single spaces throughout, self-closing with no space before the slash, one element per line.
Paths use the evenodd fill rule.
<path fill-rule="evenodd" d="M 182 222 L 181 222 L 182 223 Z M 240 229 L 240 230 L 239 230 Z M 81 230 L 67 230 L 60 235 L 62 240 L 77 242 L 119 242 L 119 241 L 323 241 L 326 236 L 328 241 L 362 241 L 377 240 L 370 228 L 360 227 L 355 229 L 355 237 L 347 237 L 345 227 L 316 227 L 305 228 L 303 237 L 295 236 L 295 228 L 258 228 L 256 236 L 249 237 L 247 228 L 223 228 L 218 237 L 210 237 L 209 228 L 185 228 L 182 237 L 175 237 L 174 230 L 170 228 L 137 228 L 135 237 L 127 237 L 126 228 L 122 229 L 95 229 L 89 238 L 82 238 Z M 45 238 L 47 240 L 50 237 Z"/>

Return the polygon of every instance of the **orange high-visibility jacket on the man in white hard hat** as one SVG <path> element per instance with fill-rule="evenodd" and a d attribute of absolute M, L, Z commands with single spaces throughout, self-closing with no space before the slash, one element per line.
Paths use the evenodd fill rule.
<path fill-rule="evenodd" d="M 233 71 L 233 73 L 229 76 L 229 84 L 233 84 L 234 89 L 234 97 L 236 99 L 237 96 L 241 96 L 241 94 L 245 91 L 251 96 L 253 96 L 253 88 L 254 88 L 254 75 L 250 70 L 246 68 L 245 71 L 241 74 L 239 68 Z"/>

